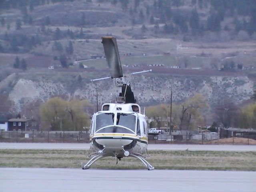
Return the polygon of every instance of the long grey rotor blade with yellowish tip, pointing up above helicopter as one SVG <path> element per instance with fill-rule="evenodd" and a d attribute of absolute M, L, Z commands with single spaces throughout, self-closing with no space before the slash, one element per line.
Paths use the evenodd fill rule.
<path fill-rule="evenodd" d="M 102 44 L 104 47 L 104 52 L 108 67 L 110 69 L 110 74 L 112 78 L 123 77 L 122 66 L 120 62 L 120 56 L 118 52 L 118 47 L 116 43 L 116 38 L 114 37 L 102 37 Z"/>

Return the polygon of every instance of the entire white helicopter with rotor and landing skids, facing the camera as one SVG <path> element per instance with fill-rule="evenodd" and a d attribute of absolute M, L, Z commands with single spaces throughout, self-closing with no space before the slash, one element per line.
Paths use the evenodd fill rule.
<path fill-rule="evenodd" d="M 93 157 L 86 164 L 82 164 L 82 169 L 90 168 L 100 158 L 113 156 L 116 163 L 123 157 L 138 158 L 148 170 L 153 170 L 154 167 L 145 160 L 149 157 L 145 109 L 142 114 L 131 86 L 126 82 L 126 76 L 123 76 L 116 38 L 102 37 L 102 44 L 111 76 L 91 81 L 112 78 L 122 92 L 116 96 L 115 103 L 105 103 L 101 111 L 93 114 L 90 126 L 91 146 L 87 155 Z M 142 72 L 149 71 L 152 70 Z"/>

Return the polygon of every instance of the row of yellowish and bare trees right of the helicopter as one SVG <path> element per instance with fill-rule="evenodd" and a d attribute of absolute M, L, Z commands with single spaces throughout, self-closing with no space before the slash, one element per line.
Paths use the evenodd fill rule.
<path fill-rule="evenodd" d="M 236 105 L 224 99 L 210 108 L 201 94 L 195 94 L 180 104 L 172 105 L 172 126 L 174 130 L 197 130 L 205 127 L 207 118 L 212 118 L 212 128 L 236 127 L 256 128 L 256 97 L 246 105 Z M 159 104 L 146 108 L 146 115 L 153 121 L 152 127 L 170 126 L 170 104 Z M 167 124 L 166 124 L 167 121 Z"/>

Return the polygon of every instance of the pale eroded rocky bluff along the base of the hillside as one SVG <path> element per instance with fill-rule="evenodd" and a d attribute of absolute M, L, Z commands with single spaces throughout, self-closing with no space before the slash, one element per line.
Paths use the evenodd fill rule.
<path fill-rule="evenodd" d="M 8 78 L 13 78 L 13 76 L 15 75 L 12 74 Z M 20 76 L 12 83 L 5 85 L 13 84 L 8 94 L 17 111 L 29 102 L 46 101 L 53 96 L 64 96 L 69 99 L 86 98 L 96 104 L 96 89 L 98 89 L 99 104 L 110 102 L 110 100 L 113 102 L 115 98 L 116 92 L 112 80 L 91 83 L 86 80 L 86 74 L 81 74 L 82 80 L 78 82 L 76 73 L 62 73 L 61 76 L 70 76 L 70 79 L 69 81 L 60 80 L 59 82 L 56 82 L 54 77 L 46 77 L 46 74 L 38 74 L 38 76 L 41 78 L 37 80 L 26 78 L 26 75 Z M 226 98 L 232 99 L 235 103 L 240 103 L 249 99 L 253 93 L 253 81 L 246 76 L 177 76 L 174 74 L 158 75 L 152 73 L 134 75 L 128 80 L 132 85 L 138 103 L 147 105 L 170 102 L 171 85 L 173 85 L 174 102 L 181 102 L 198 92 L 203 94 L 212 106 Z M 3 82 L 0 83 L 0 86 L 4 86 Z"/>

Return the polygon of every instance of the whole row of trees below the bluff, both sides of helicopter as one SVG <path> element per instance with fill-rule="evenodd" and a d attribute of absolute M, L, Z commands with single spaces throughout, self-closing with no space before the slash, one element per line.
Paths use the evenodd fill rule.
<path fill-rule="evenodd" d="M 78 76 L 78 82 L 81 82 Z M 256 92 L 256 91 L 255 91 Z M 230 99 L 221 101 L 216 106 L 209 105 L 201 94 L 184 100 L 182 103 L 172 104 L 172 128 L 173 130 L 197 130 L 198 127 L 207 126 L 207 119 L 212 119 L 212 128 L 236 127 L 256 128 L 256 93 L 250 103 L 236 105 Z M 7 118 L 14 118 L 12 102 L 5 94 L 0 94 L 2 105 L 1 113 Z M 50 98 L 46 102 L 35 101 L 26 104 L 19 114 L 26 114 L 27 118 L 33 118 L 41 124 L 41 130 L 84 130 L 90 124 L 92 104 L 87 100 L 66 100 L 60 97 Z M 13 116 L 14 115 L 14 116 Z M 170 127 L 170 104 L 158 104 L 146 107 L 146 116 L 149 118 L 148 126 Z M 151 121 L 152 120 L 152 121 Z"/>

